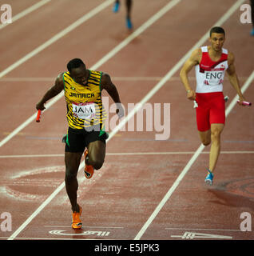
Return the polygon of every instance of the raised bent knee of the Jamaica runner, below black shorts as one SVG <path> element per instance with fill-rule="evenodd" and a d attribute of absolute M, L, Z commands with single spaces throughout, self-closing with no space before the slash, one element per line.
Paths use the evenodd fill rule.
<path fill-rule="evenodd" d="M 85 159 L 87 165 L 93 166 L 95 170 L 101 169 L 105 159 L 105 142 L 95 141 L 89 142 L 88 158 Z"/>

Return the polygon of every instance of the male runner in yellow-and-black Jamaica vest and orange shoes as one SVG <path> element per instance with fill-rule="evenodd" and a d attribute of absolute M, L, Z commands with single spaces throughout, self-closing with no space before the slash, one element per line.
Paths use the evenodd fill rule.
<path fill-rule="evenodd" d="M 119 94 L 109 74 L 87 70 L 80 58 L 67 64 L 68 72 L 58 75 L 55 85 L 46 92 L 36 105 L 45 110 L 44 104 L 62 90 L 67 106 L 68 134 L 65 142 L 65 187 L 73 210 L 73 229 L 81 229 L 81 206 L 77 204 L 77 170 L 85 151 L 85 177 L 93 176 L 93 169 L 99 170 L 105 158 L 104 130 L 105 110 L 101 102 L 101 90 L 106 90 L 117 104 L 119 118 L 124 116 Z M 85 150 L 86 148 L 86 150 Z"/>

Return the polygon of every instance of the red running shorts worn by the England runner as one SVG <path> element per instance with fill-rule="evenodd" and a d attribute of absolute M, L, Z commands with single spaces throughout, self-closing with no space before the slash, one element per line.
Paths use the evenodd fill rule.
<path fill-rule="evenodd" d="M 222 92 L 196 93 L 197 130 L 210 130 L 212 123 L 225 123 L 225 102 Z"/>

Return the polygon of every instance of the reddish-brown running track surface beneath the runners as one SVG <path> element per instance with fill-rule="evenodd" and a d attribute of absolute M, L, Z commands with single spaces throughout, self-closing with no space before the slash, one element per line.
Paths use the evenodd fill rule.
<path fill-rule="evenodd" d="M 10 4 L 15 15 L 35 2 Z M 74 6 L 70 0 L 50 1 L 3 28 L 1 72 L 105 2 L 87 0 Z M 134 31 L 169 2 L 157 0 L 152 6 L 146 0 L 135 1 Z M 105 165 L 93 179 L 85 180 L 79 172 L 83 230 L 70 228 L 71 211 L 62 186 L 65 167 L 61 138 L 67 130 L 64 99 L 43 113 L 42 122 L 26 123 L 4 143 L 0 148 L 0 214 L 11 214 L 12 230 L 0 230 L 2 240 L 254 238 L 252 231 L 240 231 L 241 213 L 248 212 L 254 218 L 253 108 L 234 106 L 228 114 L 214 186 L 204 186 L 209 148 L 189 165 L 200 141 L 192 102 L 185 98 L 179 68 L 175 67 L 235 2 L 192 0 L 192 5 L 187 5 L 186 1 L 175 1 L 176 6 L 98 66 L 105 54 L 131 34 L 125 29 L 123 6 L 119 14 L 113 14 L 109 2 L 81 26 L 0 78 L 2 142 L 35 113 L 36 102 L 65 70 L 70 58 L 83 58 L 88 67 L 98 66 L 97 70 L 108 72 L 125 106 L 140 102 L 169 70 L 174 70 L 169 81 L 148 99 L 151 104 L 161 103 L 161 107 L 171 104 L 170 137 L 157 141 L 154 129 L 119 131 L 110 138 Z M 224 47 L 236 55 L 237 74 L 244 85 L 253 76 L 251 26 L 240 23 L 239 6 L 222 26 L 227 34 Z M 205 44 L 208 42 L 204 40 Z M 244 93 L 250 102 L 254 102 L 252 85 L 251 81 Z M 230 98 L 229 106 L 236 93 L 228 80 L 224 94 Z M 109 120 L 112 117 L 109 114 Z M 136 116 L 134 119 L 136 122 Z M 176 186 L 179 177 L 182 179 Z M 172 194 L 161 202 L 170 188 Z"/>

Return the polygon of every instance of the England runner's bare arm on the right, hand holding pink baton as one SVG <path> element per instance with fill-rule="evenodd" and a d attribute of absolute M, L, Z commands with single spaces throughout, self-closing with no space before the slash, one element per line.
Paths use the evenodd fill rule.
<path fill-rule="evenodd" d="M 235 88 L 236 93 L 239 96 L 239 100 L 240 100 L 239 104 L 243 105 L 242 102 L 245 101 L 245 98 L 240 90 L 239 80 L 237 78 L 236 67 L 234 65 L 234 62 L 235 62 L 234 55 L 228 52 L 228 70 L 227 70 L 228 79 L 231 85 Z"/>

